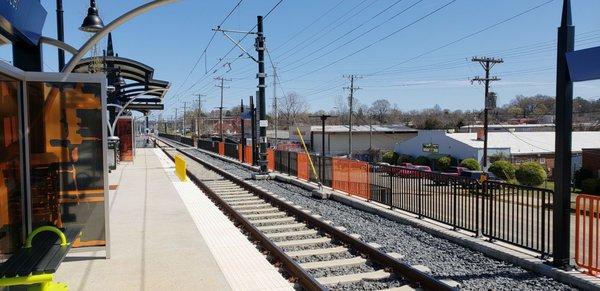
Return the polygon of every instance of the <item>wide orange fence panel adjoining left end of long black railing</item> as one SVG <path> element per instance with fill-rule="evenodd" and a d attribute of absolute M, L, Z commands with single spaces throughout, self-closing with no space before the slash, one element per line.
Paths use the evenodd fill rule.
<path fill-rule="evenodd" d="M 371 199 L 371 184 L 366 162 L 333 158 L 332 187 L 350 195 Z"/>

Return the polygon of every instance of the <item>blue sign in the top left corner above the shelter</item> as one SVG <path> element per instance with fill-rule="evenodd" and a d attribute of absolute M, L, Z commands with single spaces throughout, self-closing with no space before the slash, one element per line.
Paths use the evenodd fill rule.
<path fill-rule="evenodd" d="M 39 0 L 0 0 L 0 28 L 12 39 L 37 45 L 47 14 Z"/>

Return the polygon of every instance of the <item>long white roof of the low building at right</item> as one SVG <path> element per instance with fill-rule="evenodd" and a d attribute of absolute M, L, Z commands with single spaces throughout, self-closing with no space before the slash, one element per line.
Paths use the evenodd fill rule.
<path fill-rule="evenodd" d="M 483 148 L 483 140 L 477 140 L 477 133 L 446 135 L 474 148 Z M 596 147 L 600 147 L 600 131 L 573 132 L 571 151 L 581 152 L 582 148 Z M 513 155 L 554 153 L 554 132 L 489 132 L 488 148 L 510 148 Z"/>

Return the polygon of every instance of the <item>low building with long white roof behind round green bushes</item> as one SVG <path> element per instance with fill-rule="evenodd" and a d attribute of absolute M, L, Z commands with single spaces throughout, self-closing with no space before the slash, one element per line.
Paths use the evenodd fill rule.
<path fill-rule="evenodd" d="M 554 132 L 489 132 L 488 156 L 503 155 L 514 163 L 535 161 L 549 173 L 554 169 Z M 582 166 L 582 149 L 600 147 L 600 132 L 573 132 L 572 170 Z M 411 156 L 451 155 L 457 159 L 475 158 L 483 162 L 483 135 L 443 130 L 419 131 L 418 136 L 396 146 L 396 152 Z"/>

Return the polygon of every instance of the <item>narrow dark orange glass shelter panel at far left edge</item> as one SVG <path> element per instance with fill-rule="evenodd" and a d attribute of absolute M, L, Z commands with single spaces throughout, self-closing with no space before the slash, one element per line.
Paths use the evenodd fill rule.
<path fill-rule="evenodd" d="M 0 261 L 19 248 L 23 238 L 19 84 L 0 74 Z"/>

